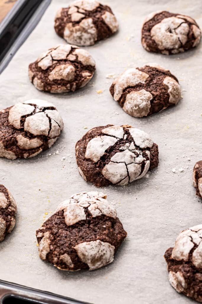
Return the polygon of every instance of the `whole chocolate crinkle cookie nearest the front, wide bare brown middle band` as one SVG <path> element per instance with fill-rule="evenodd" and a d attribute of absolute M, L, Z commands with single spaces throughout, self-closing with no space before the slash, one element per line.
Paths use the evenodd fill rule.
<path fill-rule="evenodd" d="M 72 195 L 36 232 L 39 256 L 61 270 L 94 270 L 114 260 L 127 233 L 101 192 Z"/>

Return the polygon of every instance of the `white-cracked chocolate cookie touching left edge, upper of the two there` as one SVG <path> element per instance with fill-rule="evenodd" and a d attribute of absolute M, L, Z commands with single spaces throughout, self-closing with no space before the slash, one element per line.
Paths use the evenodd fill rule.
<path fill-rule="evenodd" d="M 50 148 L 63 129 L 55 106 L 31 99 L 0 110 L 0 157 L 27 158 Z"/>

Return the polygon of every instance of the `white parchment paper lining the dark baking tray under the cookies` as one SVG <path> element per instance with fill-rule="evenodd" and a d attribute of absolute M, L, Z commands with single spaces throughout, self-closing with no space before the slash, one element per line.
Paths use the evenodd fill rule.
<path fill-rule="evenodd" d="M 0 182 L 18 204 L 16 227 L 0 243 L 0 278 L 96 304 L 191 303 L 169 284 L 163 255 L 181 230 L 201 223 L 202 204 L 195 196 L 191 175 L 195 162 L 202 159 L 202 44 L 195 50 L 167 57 L 145 51 L 140 33 L 144 17 L 161 9 L 190 15 L 202 27 L 202 1 L 107 2 L 120 29 L 110 39 L 86 47 L 97 64 L 96 74 L 87 86 L 74 93 L 53 95 L 38 91 L 28 79 L 28 64 L 42 51 L 64 42 L 55 33 L 53 20 L 56 10 L 69 3 L 66 0 L 52 0 L 36 29 L 0 76 L 1 108 L 27 99 L 45 99 L 55 104 L 65 125 L 56 144 L 39 156 L 15 161 L 0 159 Z M 133 118 L 109 94 L 112 79 L 106 75 L 148 62 L 167 67 L 176 75 L 183 99 L 176 107 L 158 114 Z M 103 92 L 97 94 L 97 90 Z M 89 129 L 109 123 L 130 124 L 151 134 L 159 145 L 160 163 L 131 185 L 99 189 L 78 174 L 74 147 Z M 94 190 L 108 195 L 128 232 L 114 262 L 96 271 L 75 273 L 43 262 L 38 257 L 35 230 L 62 200 L 80 191 Z"/>

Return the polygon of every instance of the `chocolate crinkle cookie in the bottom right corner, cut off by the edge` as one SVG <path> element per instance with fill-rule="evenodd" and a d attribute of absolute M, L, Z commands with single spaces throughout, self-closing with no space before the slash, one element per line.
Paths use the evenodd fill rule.
<path fill-rule="evenodd" d="M 165 252 L 171 285 L 187 297 L 202 302 L 202 225 L 182 231 Z"/>

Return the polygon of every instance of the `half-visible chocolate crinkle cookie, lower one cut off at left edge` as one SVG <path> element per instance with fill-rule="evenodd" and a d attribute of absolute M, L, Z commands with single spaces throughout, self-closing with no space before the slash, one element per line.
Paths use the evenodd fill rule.
<path fill-rule="evenodd" d="M 6 187 L 0 185 L 0 242 L 15 227 L 17 206 L 15 199 Z"/>

